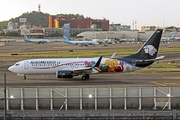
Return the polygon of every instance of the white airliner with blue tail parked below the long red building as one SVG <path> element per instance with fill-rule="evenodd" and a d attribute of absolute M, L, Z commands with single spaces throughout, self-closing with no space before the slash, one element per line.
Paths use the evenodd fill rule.
<path fill-rule="evenodd" d="M 64 42 L 65 43 L 68 43 L 68 44 L 73 44 L 73 45 L 81 45 L 82 46 L 88 46 L 88 45 L 96 45 L 98 44 L 98 42 L 96 41 L 71 41 L 67 38 L 66 35 L 63 35 L 63 38 L 64 38 Z"/>

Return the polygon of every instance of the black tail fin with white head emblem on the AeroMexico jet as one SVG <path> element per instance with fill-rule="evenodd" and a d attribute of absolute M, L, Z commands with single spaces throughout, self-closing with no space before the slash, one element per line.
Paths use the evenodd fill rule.
<path fill-rule="evenodd" d="M 136 54 L 128 57 L 138 59 L 154 59 L 157 56 L 163 29 L 157 29 L 152 36 L 144 43 Z"/>

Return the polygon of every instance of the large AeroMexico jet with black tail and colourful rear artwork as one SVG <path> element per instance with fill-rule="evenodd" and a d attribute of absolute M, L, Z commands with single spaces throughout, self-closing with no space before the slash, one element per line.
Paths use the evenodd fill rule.
<path fill-rule="evenodd" d="M 92 74 L 128 72 L 145 68 L 165 56 L 157 57 L 163 29 L 157 29 L 137 51 L 122 58 L 114 53 L 110 58 L 40 58 L 22 60 L 8 68 L 26 79 L 26 75 L 54 74 L 57 78 L 73 78 L 82 75 L 82 80 Z"/>

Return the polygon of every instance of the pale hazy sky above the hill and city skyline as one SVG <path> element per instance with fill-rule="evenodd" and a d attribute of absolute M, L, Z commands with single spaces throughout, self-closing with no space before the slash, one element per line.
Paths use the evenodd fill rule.
<path fill-rule="evenodd" d="M 180 26 L 180 0 L 4 0 L 0 21 L 38 11 L 51 15 L 80 14 L 92 19 L 107 19 L 109 23 L 141 26 Z M 27 20 L 28 21 L 28 20 Z"/>

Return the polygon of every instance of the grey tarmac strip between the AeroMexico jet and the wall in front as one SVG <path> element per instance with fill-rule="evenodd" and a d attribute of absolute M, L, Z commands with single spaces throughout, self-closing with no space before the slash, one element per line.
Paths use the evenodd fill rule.
<path fill-rule="evenodd" d="M 0 86 L 3 86 L 3 76 L 6 73 L 8 87 L 32 86 L 180 86 L 179 72 L 170 73 L 109 73 L 91 75 L 86 81 L 81 76 L 70 79 L 58 79 L 55 75 L 27 75 L 27 79 L 17 76 L 7 70 L 10 64 L 1 65 Z"/>

